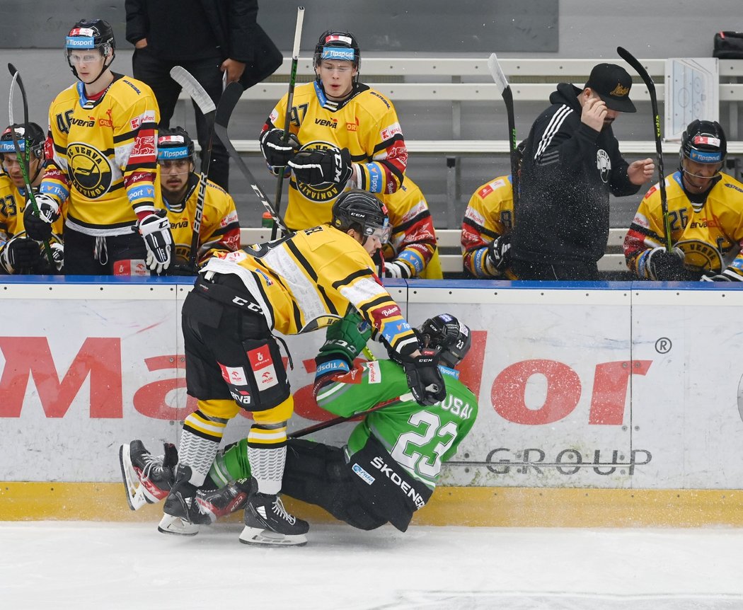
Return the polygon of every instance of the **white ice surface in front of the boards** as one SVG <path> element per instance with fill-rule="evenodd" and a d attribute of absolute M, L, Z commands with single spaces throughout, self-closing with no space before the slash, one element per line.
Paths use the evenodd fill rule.
<path fill-rule="evenodd" d="M 743 530 L 314 525 L 301 548 L 0 522 L 4 609 L 743 609 Z"/>

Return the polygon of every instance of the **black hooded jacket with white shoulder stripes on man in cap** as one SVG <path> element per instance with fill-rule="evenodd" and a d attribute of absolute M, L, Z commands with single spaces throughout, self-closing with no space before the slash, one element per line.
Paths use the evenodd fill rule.
<path fill-rule="evenodd" d="M 531 127 L 511 240 L 514 259 L 570 265 L 596 262 L 609 239 L 609 191 L 633 195 L 628 163 L 611 126 L 580 122 L 581 90 L 562 82 Z"/>

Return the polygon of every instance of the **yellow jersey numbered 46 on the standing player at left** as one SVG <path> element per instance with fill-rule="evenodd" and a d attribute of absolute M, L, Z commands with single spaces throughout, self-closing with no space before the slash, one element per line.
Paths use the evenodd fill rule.
<path fill-rule="evenodd" d="M 102 97 L 82 82 L 49 108 L 48 164 L 40 192 L 69 198 L 66 226 L 92 236 L 132 232 L 137 213 L 155 210 L 160 111 L 145 83 L 114 74 Z"/>

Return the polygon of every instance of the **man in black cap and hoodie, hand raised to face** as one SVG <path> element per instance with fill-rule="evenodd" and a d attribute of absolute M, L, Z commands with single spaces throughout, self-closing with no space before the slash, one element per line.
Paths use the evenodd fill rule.
<path fill-rule="evenodd" d="M 531 127 L 511 239 L 519 279 L 599 279 L 609 239 L 609 192 L 634 195 L 652 178 L 652 159 L 627 163 L 611 123 L 635 112 L 624 68 L 599 64 L 583 90 L 557 85 Z"/>

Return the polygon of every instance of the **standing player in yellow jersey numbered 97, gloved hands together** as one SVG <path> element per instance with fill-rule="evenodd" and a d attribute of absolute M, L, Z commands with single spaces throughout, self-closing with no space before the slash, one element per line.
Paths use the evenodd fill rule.
<path fill-rule="evenodd" d="M 359 82 L 361 53 L 351 33 L 328 30 L 314 52 L 315 80 L 282 97 L 266 120 L 261 151 L 273 172 L 291 168 L 285 214 L 291 230 L 328 222 L 346 189 L 395 192 L 408 160 L 395 107 Z M 291 113 L 288 143 L 282 141 Z M 299 151 L 299 152 L 298 152 Z"/>

